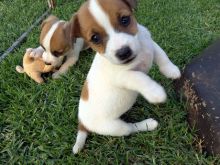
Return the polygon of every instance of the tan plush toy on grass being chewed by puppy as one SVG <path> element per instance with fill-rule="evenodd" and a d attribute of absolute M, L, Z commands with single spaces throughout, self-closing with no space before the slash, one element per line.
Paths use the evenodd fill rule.
<path fill-rule="evenodd" d="M 18 65 L 16 70 L 19 73 L 26 73 L 37 83 L 43 83 L 44 79 L 41 77 L 41 74 L 55 71 L 55 68 L 52 65 L 46 65 L 41 57 L 31 56 L 31 51 L 31 48 L 26 50 L 23 57 L 23 67 Z"/>

